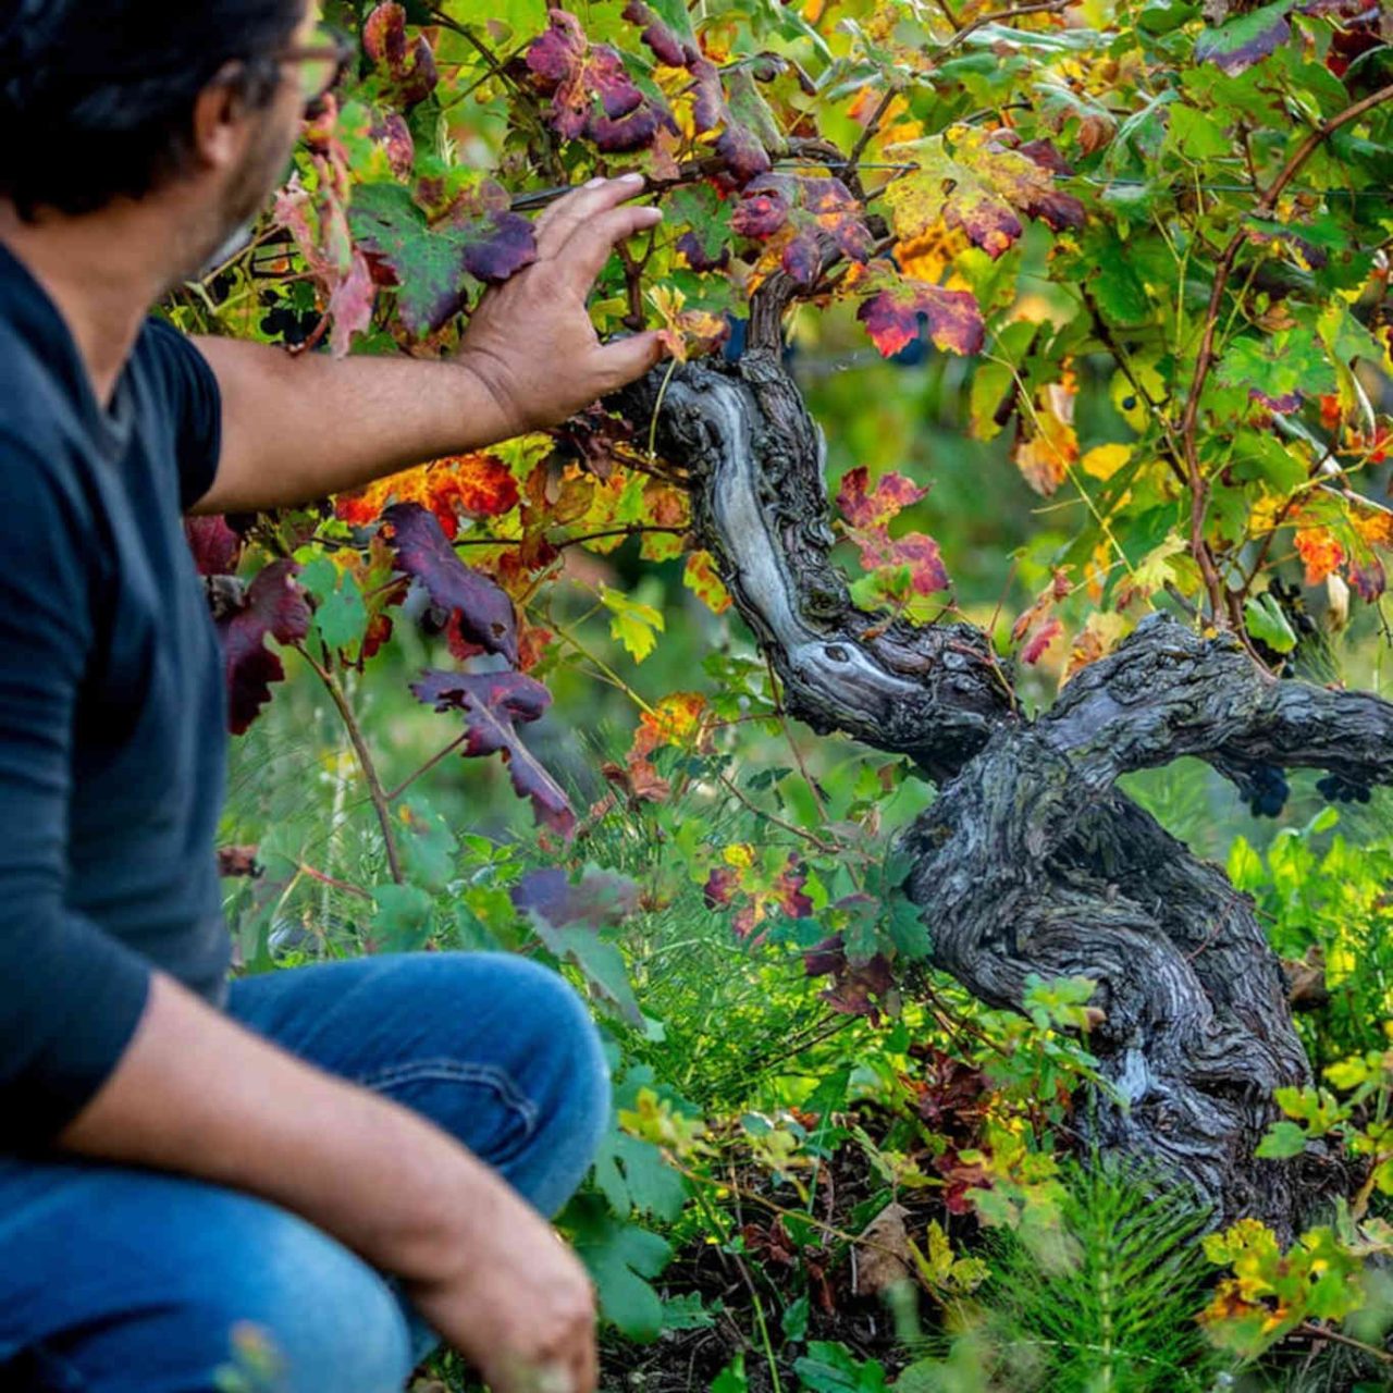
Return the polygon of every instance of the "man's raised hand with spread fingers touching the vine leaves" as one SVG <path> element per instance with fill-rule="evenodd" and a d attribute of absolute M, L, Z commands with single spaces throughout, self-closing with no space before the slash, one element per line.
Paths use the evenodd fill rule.
<path fill-rule="evenodd" d="M 488 389 L 508 435 L 556 425 L 662 358 L 653 333 L 602 344 L 585 308 L 614 248 L 662 220 L 656 208 L 623 206 L 642 182 L 592 180 L 557 199 L 536 223 L 538 259 L 469 318 L 458 362 Z"/>

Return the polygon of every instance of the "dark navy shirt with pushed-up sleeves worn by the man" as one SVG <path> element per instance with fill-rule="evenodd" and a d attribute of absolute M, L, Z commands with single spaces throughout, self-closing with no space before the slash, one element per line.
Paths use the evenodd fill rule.
<path fill-rule="evenodd" d="M 0 1149 L 82 1109 L 153 967 L 224 992 L 224 692 L 181 527 L 220 415 L 212 369 L 155 320 L 103 410 L 0 247 Z"/>

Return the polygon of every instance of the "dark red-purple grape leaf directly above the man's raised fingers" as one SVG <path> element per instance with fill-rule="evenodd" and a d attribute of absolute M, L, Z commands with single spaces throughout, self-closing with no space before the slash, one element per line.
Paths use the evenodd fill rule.
<path fill-rule="evenodd" d="M 585 138 L 609 152 L 648 145 L 671 117 L 644 95 L 607 43 L 591 43 L 579 20 L 549 10 L 550 26 L 527 50 L 538 91 L 552 99 L 547 121 L 568 141 Z"/>

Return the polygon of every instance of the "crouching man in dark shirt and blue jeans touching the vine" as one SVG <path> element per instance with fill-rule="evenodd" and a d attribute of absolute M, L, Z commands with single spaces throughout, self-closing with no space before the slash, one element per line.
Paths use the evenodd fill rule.
<path fill-rule="evenodd" d="M 585 297 L 659 215 L 632 181 L 553 205 L 451 364 L 146 322 L 332 79 L 306 0 L 0 0 L 6 1389 L 203 1393 L 237 1336 L 270 1378 L 235 1386 L 391 1393 L 432 1332 L 503 1393 L 595 1385 L 542 1217 L 605 1126 L 564 983 L 422 954 L 226 985 L 223 694 L 180 511 L 323 497 L 638 376 L 655 337 L 600 345 Z"/>

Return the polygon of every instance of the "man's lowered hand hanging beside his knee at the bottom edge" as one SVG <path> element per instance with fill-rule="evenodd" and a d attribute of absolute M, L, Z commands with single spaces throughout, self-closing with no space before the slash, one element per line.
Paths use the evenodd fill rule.
<path fill-rule="evenodd" d="M 407 1291 L 495 1393 L 593 1393 L 595 1294 L 585 1269 L 501 1180 L 471 1188 L 447 1276 Z M 449 1220 L 447 1220 L 449 1224 Z"/>

